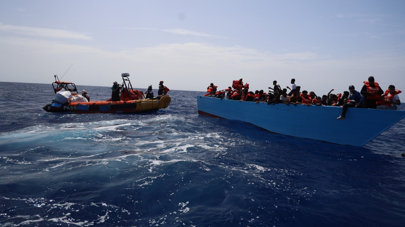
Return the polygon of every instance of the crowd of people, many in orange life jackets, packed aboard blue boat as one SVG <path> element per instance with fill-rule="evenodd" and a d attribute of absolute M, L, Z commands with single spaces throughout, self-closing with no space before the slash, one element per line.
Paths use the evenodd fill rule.
<path fill-rule="evenodd" d="M 317 106 L 341 106 L 342 113 L 337 119 L 346 118 L 347 108 L 369 108 L 369 109 L 397 109 L 401 105 L 398 94 L 400 90 L 395 89 L 394 85 L 388 86 L 384 92 L 374 77 L 370 76 L 360 92 L 355 90 L 353 85 L 349 86 L 349 91 L 343 91 L 339 94 L 332 94 L 334 89 L 330 90 L 328 95 L 317 96 L 315 92 L 301 91 L 301 86 L 295 84 L 295 79 L 291 79 L 291 88 L 281 88 L 277 81 L 273 81 L 273 87 L 269 87 L 269 92 L 264 90 L 249 91 L 249 84 L 243 84 L 243 79 L 234 80 L 232 86 L 217 90 L 217 86 L 211 83 L 207 87 L 205 96 L 220 99 L 230 99 L 237 101 L 251 101 L 256 103 L 267 103 L 275 105 L 283 103 L 286 105 L 317 105 Z M 288 90 L 287 90 L 288 89 Z"/>

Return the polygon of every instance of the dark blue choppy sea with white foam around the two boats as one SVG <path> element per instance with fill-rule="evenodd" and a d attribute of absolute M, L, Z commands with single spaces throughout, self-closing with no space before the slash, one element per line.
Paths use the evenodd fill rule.
<path fill-rule="evenodd" d="M 353 147 L 200 116 L 204 92 L 172 90 L 156 113 L 60 114 L 42 109 L 51 84 L 0 87 L 0 226 L 405 226 L 404 119 Z"/>

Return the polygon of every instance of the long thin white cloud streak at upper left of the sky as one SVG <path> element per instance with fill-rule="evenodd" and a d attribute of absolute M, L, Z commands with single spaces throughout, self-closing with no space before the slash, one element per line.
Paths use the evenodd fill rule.
<path fill-rule="evenodd" d="M 51 29 L 43 27 L 26 27 L 26 26 L 15 26 L 6 25 L 0 23 L 0 31 L 2 32 L 12 32 L 17 34 L 22 34 L 25 36 L 39 36 L 46 38 L 57 38 L 57 39 L 77 39 L 77 40 L 93 40 L 92 37 L 78 32 L 72 32 L 62 29 Z"/>

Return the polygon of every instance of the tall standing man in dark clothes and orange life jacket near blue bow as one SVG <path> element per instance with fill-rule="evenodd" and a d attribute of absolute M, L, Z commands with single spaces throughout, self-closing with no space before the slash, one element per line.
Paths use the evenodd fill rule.
<path fill-rule="evenodd" d="M 380 99 L 384 91 L 380 88 L 378 83 L 374 81 L 373 76 L 370 76 L 369 80 L 363 83 L 364 85 L 360 90 L 360 94 L 364 96 L 364 105 L 366 108 L 375 109 L 377 107 L 376 101 Z"/>

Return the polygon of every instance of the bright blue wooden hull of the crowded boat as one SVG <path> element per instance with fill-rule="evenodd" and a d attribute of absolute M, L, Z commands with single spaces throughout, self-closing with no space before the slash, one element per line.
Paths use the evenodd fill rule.
<path fill-rule="evenodd" d="M 362 146 L 405 117 L 405 111 L 306 106 L 234 101 L 197 96 L 198 113 L 214 118 L 240 120 L 271 132 L 342 145 Z"/>

